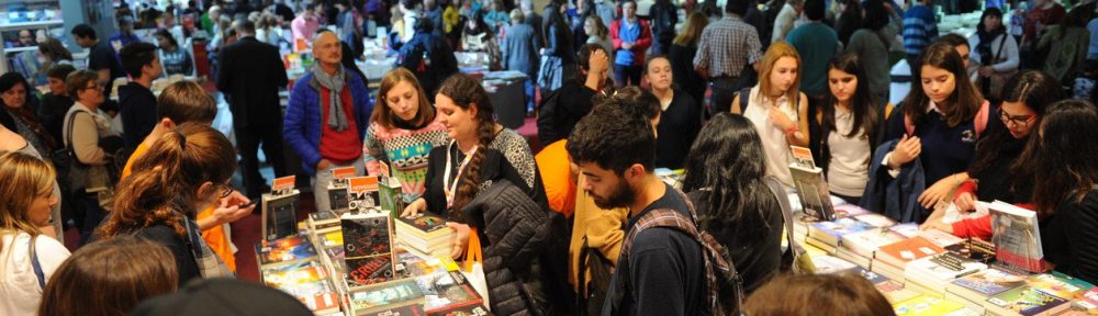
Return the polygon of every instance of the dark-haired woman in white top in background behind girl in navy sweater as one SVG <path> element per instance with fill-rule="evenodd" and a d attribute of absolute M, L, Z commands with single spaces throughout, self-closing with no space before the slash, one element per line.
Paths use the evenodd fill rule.
<path fill-rule="evenodd" d="M 998 8 L 984 10 L 979 21 L 976 34 L 968 36 L 968 46 L 972 47 L 968 58 L 974 65 L 979 65 L 972 80 L 988 100 L 999 100 L 1002 83 L 1018 72 L 1018 43 L 1006 33 L 1002 11 Z"/>

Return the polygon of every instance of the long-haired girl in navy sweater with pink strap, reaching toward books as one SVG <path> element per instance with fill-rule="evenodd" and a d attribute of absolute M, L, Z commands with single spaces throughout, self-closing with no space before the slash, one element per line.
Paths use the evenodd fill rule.
<path fill-rule="evenodd" d="M 878 162 L 887 168 L 878 171 L 887 171 L 888 177 L 895 178 L 901 167 L 919 160 L 927 187 L 921 192 L 911 192 L 918 196 L 919 205 L 903 210 L 904 218 L 898 219 L 922 223 L 930 215 L 929 208 L 968 180 L 964 171 L 972 161 L 979 134 L 987 127 L 990 110 L 968 81 L 964 61 L 953 45 L 939 42 L 928 46 L 919 54 L 917 64 L 921 66 L 912 75 L 918 84 L 911 84 L 911 93 L 897 113 L 900 115 L 890 115 L 886 123 L 885 139 L 898 140 L 893 147 L 878 148 L 889 150 Z"/>

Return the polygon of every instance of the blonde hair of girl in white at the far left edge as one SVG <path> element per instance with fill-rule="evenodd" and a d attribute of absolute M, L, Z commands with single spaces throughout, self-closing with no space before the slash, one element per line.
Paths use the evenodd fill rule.
<path fill-rule="evenodd" d="M 55 178 L 54 168 L 37 157 L 18 151 L 0 155 L 0 229 L 42 234 L 27 210 L 34 199 L 53 194 Z"/>

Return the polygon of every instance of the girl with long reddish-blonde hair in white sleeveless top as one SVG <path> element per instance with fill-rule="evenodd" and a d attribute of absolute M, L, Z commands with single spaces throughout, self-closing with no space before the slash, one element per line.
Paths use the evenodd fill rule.
<path fill-rule="evenodd" d="M 785 42 L 774 43 L 759 68 L 759 84 L 736 95 L 732 113 L 755 125 L 766 153 L 766 173 L 793 187 L 789 146 L 808 146 L 808 98 L 799 92 L 800 55 Z"/>

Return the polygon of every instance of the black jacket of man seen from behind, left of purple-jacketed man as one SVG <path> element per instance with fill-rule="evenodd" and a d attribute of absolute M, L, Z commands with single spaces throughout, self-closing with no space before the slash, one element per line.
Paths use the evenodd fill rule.
<path fill-rule="evenodd" d="M 246 36 L 221 49 L 219 65 L 217 90 L 226 94 L 235 127 L 282 123 L 278 92 L 288 79 L 278 48 Z"/>

